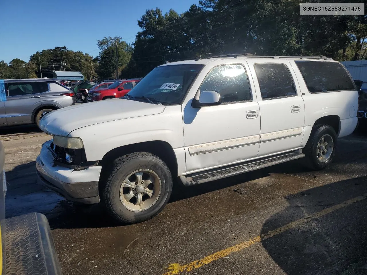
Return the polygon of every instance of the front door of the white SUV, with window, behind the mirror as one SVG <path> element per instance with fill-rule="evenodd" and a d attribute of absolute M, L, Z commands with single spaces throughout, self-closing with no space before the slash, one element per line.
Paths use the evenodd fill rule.
<path fill-rule="evenodd" d="M 247 64 L 205 69 L 200 73 L 204 79 L 199 76 L 193 85 L 197 89 L 201 83 L 195 98 L 202 91 L 216 91 L 221 104 L 194 108 L 191 99 L 182 106 L 187 173 L 246 161 L 259 151 L 260 110 Z"/>

